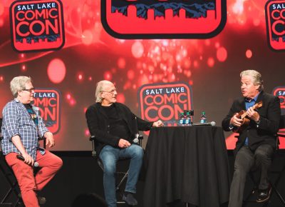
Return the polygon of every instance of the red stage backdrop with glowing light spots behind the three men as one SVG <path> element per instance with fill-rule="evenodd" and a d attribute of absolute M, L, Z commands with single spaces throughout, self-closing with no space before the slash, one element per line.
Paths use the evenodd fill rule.
<path fill-rule="evenodd" d="M 25 2 L 29 7 L 23 7 Z M 31 11 L 31 4 L 35 5 L 35 9 L 38 8 L 36 5 L 43 6 L 44 2 L 46 16 L 38 10 L 38 18 L 41 16 L 43 19 L 36 19 L 36 16 L 32 16 L 36 15 L 36 11 Z M 165 36 L 167 39 L 160 39 L 160 36 L 155 36 L 155 39 L 130 39 L 131 34 L 126 36 L 126 39 L 116 39 L 103 27 L 100 2 L 0 0 L 0 111 L 13 99 L 9 89 L 11 79 L 19 75 L 31 76 L 33 85 L 38 88 L 35 104 L 43 108 L 42 115 L 56 134 L 54 150 L 91 149 L 85 111 L 95 101 L 95 83 L 102 79 L 115 83 L 118 101 L 128 105 L 138 116 L 142 116 L 138 103 L 140 87 L 186 83 L 192 89 L 190 106 L 195 111 L 193 121 L 199 121 L 199 114 L 205 111 L 208 121 L 215 121 L 217 126 L 221 126 L 222 118 L 228 113 L 232 101 L 241 96 L 239 73 L 242 70 L 260 71 L 264 78 L 265 91 L 269 93 L 272 93 L 275 87 L 285 85 L 284 52 L 276 52 L 269 48 L 264 0 L 228 0 L 227 23 L 216 36 L 211 35 L 212 38 L 209 39 L 202 35 L 194 36 L 197 39 L 188 39 L 191 36 L 172 36 L 175 31 L 170 31 L 171 34 Z M 188 4 L 188 1 L 185 2 Z M 224 1 L 209 2 L 216 4 Z M 18 3 L 22 6 L 17 7 Z M 13 8 L 13 4 L 13 11 L 20 12 L 19 19 L 15 22 L 13 18 L 10 19 L 10 8 Z M 207 15 L 197 19 L 201 24 L 203 18 L 211 18 L 208 14 L 219 9 L 217 6 L 207 8 Z M 271 9 L 274 9 L 273 5 Z M 170 15 L 167 12 L 166 18 L 172 16 L 172 19 L 179 19 L 174 13 Z M 27 16 L 23 17 L 23 14 Z M 130 17 L 122 16 L 118 12 L 107 15 L 111 18 L 108 22 L 110 24 L 115 21 L 112 19 L 115 15 L 120 15 L 121 19 Z M 180 20 L 190 21 L 186 16 L 187 14 L 180 16 Z M 21 23 L 23 18 L 29 26 Z M 165 24 L 172 21 L 163 18 L 163 15 L 157 16 L 157 22 Z M 133 19 L 147 24 L 147 20 L 143 18 Z M 61 21 L 63 24 L 60 24 Z M 215 26 L 219 27 L 218 23 L 223 19 L 216 16 L 216 21 L 217 24 L 211 24 L 209 32 L 214 31 Z M 17 47 L 18 44 L 21 45 L 21 41 L 15 42 L 12 35 L 16 24 L 20 24 L 19 29 L 21 25 L 24 26 L 21 27 L 24 30 L 18 30 L 22 34 L 32 31 L 31 34 L 36 35 L 30 38 L 33 43 L 53 37 L 51 39 L 54 41 L 46 42 L 56 46 L 52 48 L 50 45 L 49 49 L 41 48 L 44 51 L 22 51 L 22 47 Z M 38 26 L 40 30 L 31 28 L 31 24 Z M 117 26 L 124 24 L 124 20 L 121 20 Z M 41 27 L 43 25 L 45 26 Z M 49 28 L 49 36 L 41 31 L 42 28 Z M 142 28 L 138 25 L 135 28 L 143 29 L 143 25 Z M 164 28 L 169 29 L 171 26 Z M 185 29 L 190 29 L 189 24 L 185 23 Z M 41 35 L 42 39 L 38 37 Z M 61 36 L 65 37 L 65 41 Z M 25 40 L 24 43 L 26 42 Z M 18 51 L 13 49 L 14 47 Z M 284 106 L 284 99 L 281 99 L 281 106 Z M 225 135 L 228 148 L 234 148 L 232 133 Z"/>

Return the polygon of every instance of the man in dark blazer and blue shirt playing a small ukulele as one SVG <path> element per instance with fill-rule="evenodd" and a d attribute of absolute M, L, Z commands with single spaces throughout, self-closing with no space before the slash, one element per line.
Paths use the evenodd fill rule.
<path fill-rule="evenodd" d="M 250 120 L 249 126 L 239 131 L 234 149 L 234 176 L 229 193 L 229 207 L 242 207 L 244 183 L 247 173 L 253 167 L 261 171 L 257 202 L 269 199 L 271 186 L 268 171 L 276 148 L 274 134 L 279 129 L 281 115 L 279 98 L 263 91 L 263 81 L 259 72 L 242 71 L 240 77 L 242 97 L 234 101 L 222 121 L 224 131 L 230 131 L 242 127 L 243 119 L 238 115 L 239 111 L 245 110 Z M 260 101 L 261 108 L 254 109 L 254 105 Z"/>

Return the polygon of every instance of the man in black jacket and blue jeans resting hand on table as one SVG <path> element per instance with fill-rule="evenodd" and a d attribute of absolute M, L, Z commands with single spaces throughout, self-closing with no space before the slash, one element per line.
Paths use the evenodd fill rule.
<path fill-rule="evenodd" d="M 142 166 L 143 149 L 133 143 L 135 134 L 151 127 L 163 126 L 162 121 L 148 122 L 138 118 L 124 104 L 116 102 L 117 91 L 110 81 L 99 81 L 95 90 L 95 104 L 86 111 L 91 136 L 96 137 L 96 151 L 104 166 L 103 185 L 108 207 L 115 207 L 115 168 L 120 158 L 130 158 L 128 181 L 123 200 L 129 206 L 138 201 L 133 194 Z"/>

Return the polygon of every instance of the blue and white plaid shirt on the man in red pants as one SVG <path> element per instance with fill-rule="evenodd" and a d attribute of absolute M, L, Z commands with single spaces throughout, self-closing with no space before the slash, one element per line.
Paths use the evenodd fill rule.
<path fill-rule="evenodd" d="M 33 122 L 24 104 L 19 100 L 10 101 L 3 109 L 3 123 L 1 148 L 4 155 L 20 151 L 11 141 L 13 136 L 19 135 L 26 152 L 36 161 L 36 150 L 39 146 L 38 136 L 42 137 L 48 131 L 43 123 L 43 119 L 38 115 L 38 108 L 33 106 L 36 116 L 38 116 L 38 127 Z"/>

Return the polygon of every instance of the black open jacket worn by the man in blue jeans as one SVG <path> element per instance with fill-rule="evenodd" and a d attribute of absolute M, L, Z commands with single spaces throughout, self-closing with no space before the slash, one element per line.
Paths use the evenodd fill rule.
<path fill-rule="evenodd" d="M 86 120 L 88 129 L 91 136 L 96 137 L 96 151 L 99 155 L 101 149 L 105 145 L 110 145 L 113 147 L 118 147 L 120 140 L 119 136 L 115 136 L 109 133 L 110 123 L 108 121 L 108 116 L 106 115 L 100 103 L 93 104 L 89 106 L 86 111 Z M 152 127 L 153 122 L 144 121 L 137 117 L 137 123 L 135 123 L 135 114 L 130 111 L 130 108 L 124 104 L 115 103 L 115 109 L 118 115 L 125 120 L 131 133 L 131 138 L 135 138 L 135 133 L 139 131 L 148 131 Z"/>

